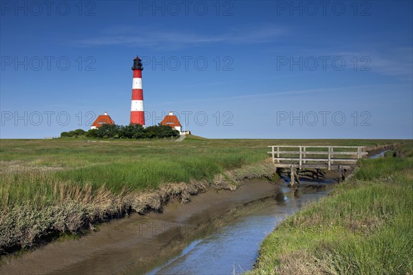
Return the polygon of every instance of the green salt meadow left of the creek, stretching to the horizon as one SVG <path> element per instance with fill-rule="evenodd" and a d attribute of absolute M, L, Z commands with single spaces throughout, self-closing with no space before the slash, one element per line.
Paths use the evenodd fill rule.
<path fill-rule="evenodd" d="M 267 145 L 395 140 L 0 140 L 0 252 L 125 212 L 159 210 L 209 186 L 271 176 Z"/>

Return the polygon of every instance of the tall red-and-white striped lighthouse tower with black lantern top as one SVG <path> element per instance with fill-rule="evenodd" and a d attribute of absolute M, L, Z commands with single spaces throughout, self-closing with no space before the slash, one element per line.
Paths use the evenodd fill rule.
<path fill-rule="evenodd" d="M 145 126 L 145 116 L 143 113 L 143 90 L 142 90 L 142 61 L 139 56 L 134 59 L 134 79 L 132 81 L 132 102 L 131 102 L 131 124 Z"/>

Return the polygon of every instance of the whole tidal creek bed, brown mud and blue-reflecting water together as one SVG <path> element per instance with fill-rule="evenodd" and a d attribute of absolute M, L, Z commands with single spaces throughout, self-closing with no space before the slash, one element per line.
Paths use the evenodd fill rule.
<path fill-rule="evenodd" d="M 288 179 L 287 179 L 288 180 Z M 251 270 L 260 242 L 332 181 L 299 192 L 250 181 L 235 192 L 210 190 L 162 214 L 132 214 L 80 239 L 2 259 L 0 274 L 232 274 Z M 305 185 L 306 182 L 301 182 Z M 312 183 L 310 183 L 312 184 Z M 321 188 L 320 188 L 321 186 Z"/>

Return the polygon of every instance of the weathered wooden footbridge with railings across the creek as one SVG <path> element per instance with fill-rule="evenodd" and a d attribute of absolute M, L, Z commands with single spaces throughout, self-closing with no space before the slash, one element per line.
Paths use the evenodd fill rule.
<path fill-rule="evenodd" d="M 342 175 L 343 169 L 352 168 L 357 160 L 367 155 L 364 151 L 366 146 L 272 145 L 268 147 L 271 148 L 268 154 L 273 157 L 275 167 L 291 169 L 291 186 L 295 185 L 297 168 L 339 170 Z"/>

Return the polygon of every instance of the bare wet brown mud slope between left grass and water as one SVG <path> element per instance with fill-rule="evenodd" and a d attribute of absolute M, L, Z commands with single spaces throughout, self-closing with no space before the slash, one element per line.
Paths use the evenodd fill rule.
<path fill-rule="evenodd" d="M 246 181 L 235 191 L 209 190 L 191 203 L 173 199 L 162 214 L 131 214 L 99 226 L 80 239 L 55 241 L 43 248 L 3 257 L 1 274 L 127 274 L 148 271 L 187 243 L 211 230 L 234 211 L 253 201 L 276 197 L 279 186 L 269 181 Z"/>

